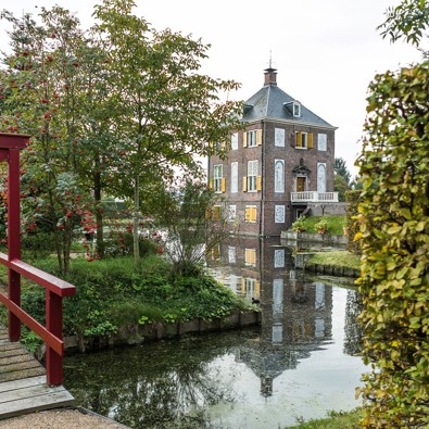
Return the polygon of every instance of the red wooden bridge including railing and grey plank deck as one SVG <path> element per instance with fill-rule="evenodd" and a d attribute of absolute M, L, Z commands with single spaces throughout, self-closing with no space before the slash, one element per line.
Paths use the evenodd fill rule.
<path fill-rule="evenodd" d="M 8 331 L 0 329 L 0 418 L 73 403 L 73 396 L 61 386 L 62 299 L 73 295 L 75 287 L 21 261 L 20 151 L 27 147 L 29 137 L 0 133 L 0 162 L 8 163 L 8 254 L 0 252 L 0 263 L 8 269 L 8 290 L 0 289 L 0 302 L 9 311 Z M 46 326 L 21 307 L 22 276 L 46 290 Z M 18 343 L 22 324 L 46 343 L 46 375 L 38 363 L 28 367 L 31 359 Z M 25 370 L 20 371 L 20 367 Z"/>

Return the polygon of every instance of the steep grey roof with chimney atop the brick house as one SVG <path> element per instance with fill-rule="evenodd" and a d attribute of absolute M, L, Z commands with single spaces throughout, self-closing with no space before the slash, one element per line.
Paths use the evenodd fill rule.
<path fill-rule="evenodd" d="M 266 79 L 266 85 L 244 102 L 243 122 L 272 118 L 336 128 L 305 108 L 302 103 L 300 103 L 300 117 L 293 116 L 292 104 L 296 99 L 277 87 L 275 78 L 276 73 L 273 73 L 275 70 L 268 68 L 267 71 L 272 72 L 269 73 L 272 79 Z"/>

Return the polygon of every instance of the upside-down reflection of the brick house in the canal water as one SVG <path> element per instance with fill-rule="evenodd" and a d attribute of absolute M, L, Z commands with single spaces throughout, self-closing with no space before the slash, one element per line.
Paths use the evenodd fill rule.
<path fill-rule="evenodd" d="M 331 288 L 306 282 L 292 265 L 291 249 L 275 239 L 230 237 L 207 265 L 237 293 L 261 300 L 260 341 L 238 346 L 237 359 L 260 377 L 268 396 L 276 377 L 331 339 Z"/>

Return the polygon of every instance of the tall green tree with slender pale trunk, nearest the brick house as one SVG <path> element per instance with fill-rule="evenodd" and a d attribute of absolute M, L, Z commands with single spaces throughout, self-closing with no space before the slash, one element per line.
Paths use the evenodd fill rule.
<path fill-rule="evenodd" d="M 200 174 L 195 155 L 207 155 L 238 126 L 240 104 L 219 99 L 223 91 L 238 88 L 237 83 L 199 73 L 209 46 L 151 28 L 133 14 L 134 7 L 131 0 L 104 0 L 96 5 L 94 16 L 109 52 L 113 128 L 123 148 L 124 167 L 113 180 L 133 199 L 138 263 L 141 189 L 153 176 L 171 180 L 177 168 Z"/>

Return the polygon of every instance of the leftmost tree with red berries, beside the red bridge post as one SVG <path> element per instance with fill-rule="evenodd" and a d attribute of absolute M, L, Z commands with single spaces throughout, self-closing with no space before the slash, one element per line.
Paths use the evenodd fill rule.
<path fill-rule="evenodd" d="M 61 8 L 41 9 L 41 24 L 30 15 L 2 18 L 12 24 L 12 53 L 3 60 L 8 75 L 1 112 L 10 131 L 31 136 L 23 153 L 23 184 L 35 220 L 52 230 L 62 272 L 68 270 L 73 237 L 81 204 L 79 153 L 74 142 L 83 122 L 85 85 L 77 54 L 85 47 L 79 22 Z"/>

